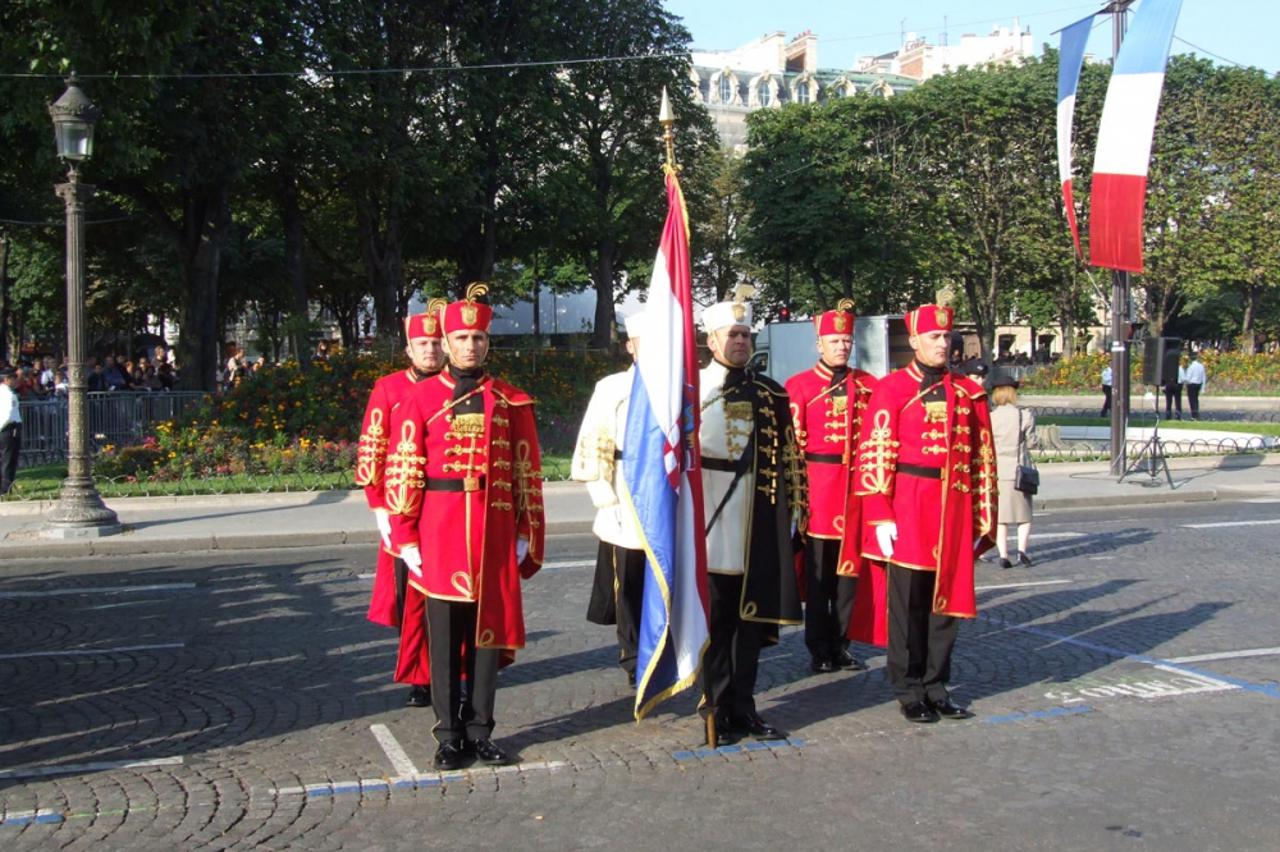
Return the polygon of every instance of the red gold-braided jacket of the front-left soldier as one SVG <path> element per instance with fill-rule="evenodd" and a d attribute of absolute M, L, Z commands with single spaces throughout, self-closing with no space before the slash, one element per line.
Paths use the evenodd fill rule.
<path fill-rule="evenodd" d="M 444 371 L 392 414 L 392 545 L 419 546 L 422 577 L 410 583 L 425 595 L 477 604 L 476 647 L 524 647 L 520 580 L 541 565 L 545 542 L 534 399 L 483 376 L 472 394 L 484 413 L 454 414 L 454 386 Z M 529 541 L 522 564 L 517 537 Z"/>

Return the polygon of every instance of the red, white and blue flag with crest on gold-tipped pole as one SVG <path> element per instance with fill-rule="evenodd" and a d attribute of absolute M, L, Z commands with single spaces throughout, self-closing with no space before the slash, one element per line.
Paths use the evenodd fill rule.
<path fill-rule="evenodd" d="M 636 719 L 698 679 L 709 638 L 707 537 L 698 449 L 698 345 L 689 215 L 667 170 L 667 224 L 649 279 L 622 445 L 626 489 L 646 555 Z"/>

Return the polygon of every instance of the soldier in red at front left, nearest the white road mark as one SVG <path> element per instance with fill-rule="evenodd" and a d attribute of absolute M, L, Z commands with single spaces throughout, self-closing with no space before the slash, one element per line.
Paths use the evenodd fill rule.
<path fill-rule="evenodd" d="M 444 310 L 449 366 L 392 414 L 392 545 L 426 595 L 436 769 L 468 753 L 509 759 L 492 739 L 498 668 L 525 646 L 521 578 L 543 562 L 541 457 L 534 400 L 485 374 L 488 288 Z M 461 681 L 470 687 L 463 696 Z"/>

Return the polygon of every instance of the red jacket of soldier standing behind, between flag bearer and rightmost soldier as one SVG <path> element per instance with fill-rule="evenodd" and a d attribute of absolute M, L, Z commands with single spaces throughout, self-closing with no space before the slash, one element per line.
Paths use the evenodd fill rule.
<path fill-rule="evenodd" d="M 809 484 L 808 535 L 838 541 L 849 523 L 856 528 L 860 522 L 859 499 L 849 471 L 858 454 L 858 435 L 876 377 L 850 368 L 832 385 L 832 375 L 819 361 L 812 370 L 791 376 L 786 388 Z M 858 562 L 842 562 L 838 572 L 856 577 Z"/>

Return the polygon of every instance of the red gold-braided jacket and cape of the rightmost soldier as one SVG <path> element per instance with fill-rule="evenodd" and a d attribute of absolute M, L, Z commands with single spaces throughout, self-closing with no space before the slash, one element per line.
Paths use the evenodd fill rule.
<path fill-rule="evenodd" d="M 924 402 L 937 384 L 922 389 L 922 379 L 915 362 L 882 379 L 863 420 L 855 484 L 863 498 L 861 553 L 883 562 L 874 527 L 896 523 L 890 562 L 934 572 L 934 613 L 973 618 L 974 558 L 995 544 L 996 528 L 996 450 L 987 393 L 970 379 L 945 372 L 938 383 L 945 399 Z M 870 573 L 873 583 L 860 583 L 859 597 L 863 586 L 879 595 L 872 624 L 859 623 L 858 613 L 868 608 L 855 604 L 851 628 L 863 641 L 887 637 L 883 574 Z M 874 636 L 864 638 L 872 626 Z"/>

